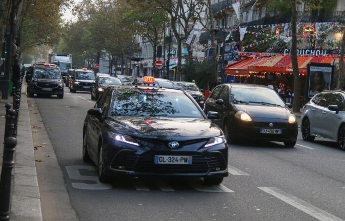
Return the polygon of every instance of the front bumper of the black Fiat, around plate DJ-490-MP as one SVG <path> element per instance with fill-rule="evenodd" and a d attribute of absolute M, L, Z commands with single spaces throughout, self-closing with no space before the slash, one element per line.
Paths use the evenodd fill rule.
<path fill-rule="evenodd" d="M 270 127 L 270 123 L 273 123 L 274 126 Z M 261 134 L 261 128 L 281 129 L 282 133 Z M 296 140 L 298 135 L 297 120 L 294 124 L 289 124 L 287 120 L 283 119 L 256 118 L 252 122 L 244 122 L 236 118 L 231 129 L 234 137 L 242 139 L 284 142 Z"/>

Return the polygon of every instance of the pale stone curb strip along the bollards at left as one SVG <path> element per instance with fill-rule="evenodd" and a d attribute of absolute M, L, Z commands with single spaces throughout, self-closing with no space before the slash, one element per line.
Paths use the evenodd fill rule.
<path fill-rule="evenodd" d="M 25 83 L 22 87 L 12 191 L 12 221 L 42 221 L 35 153 Z"/>

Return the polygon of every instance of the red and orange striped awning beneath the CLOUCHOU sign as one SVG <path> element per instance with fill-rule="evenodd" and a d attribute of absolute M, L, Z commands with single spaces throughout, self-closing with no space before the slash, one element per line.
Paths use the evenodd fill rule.
<path fill-rule="evenodd" d="M 299 73 L 307 72 L 309 63 L 326 63 L 333 65 L 333 57 L 297 57 Z M 339 58 L 336 58 L 336 63 Z M 248 71 L 257 72 L 276 72 L 276 73 L 292 73 L 291 56 L 273 56 L 258 59 L 248 65 Z"/>

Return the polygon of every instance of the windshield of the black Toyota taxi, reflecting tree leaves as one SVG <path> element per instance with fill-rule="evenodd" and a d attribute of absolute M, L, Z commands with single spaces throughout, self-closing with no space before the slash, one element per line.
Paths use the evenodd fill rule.
<path fill-rule="evenodd" d="M 111 115 L 204 118 L 197 106 L 183 93 L 137 90 L 118 91 Z"/>

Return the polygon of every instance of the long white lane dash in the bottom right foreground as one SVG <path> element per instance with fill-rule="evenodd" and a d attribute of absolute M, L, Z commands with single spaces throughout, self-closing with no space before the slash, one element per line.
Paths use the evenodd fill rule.
<path fill-rule="evenodd" d="M 330 213 L 327 213 L 326 211 L 323 211 L 310 203 L 303 201 L 302 199 L 299 199 L 289 193 L 286 193 L 282 190 L 279 190 L 275 187 L 257 187 L 266 193 L 269 193 L 276 198 L 286 202 L 287 204 L 290 204 L 291 206 L 311 215 L 312 217 L 321 220 L 321 221 L 344 221 L 340 219 L 339 217 L 336 217 Z"/>

